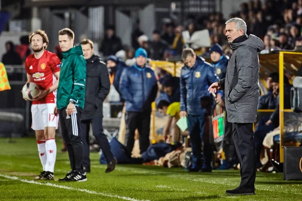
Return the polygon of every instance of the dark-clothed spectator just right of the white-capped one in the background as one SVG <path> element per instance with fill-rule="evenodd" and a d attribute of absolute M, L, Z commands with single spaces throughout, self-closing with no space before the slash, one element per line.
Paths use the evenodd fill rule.
<path fill-rule="evenodd" d="M 158 30 L 153 31 L 153 40 L 149 43 L 150 59 L 163 59 L 165 50 L 169 44 L 161 39 L 161 33 Z"/>

